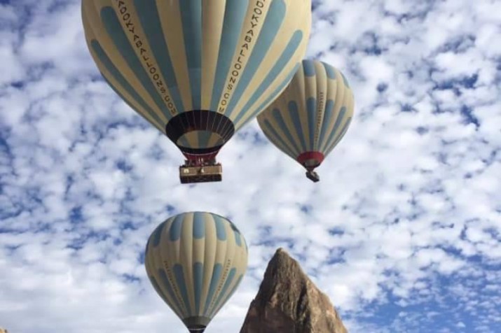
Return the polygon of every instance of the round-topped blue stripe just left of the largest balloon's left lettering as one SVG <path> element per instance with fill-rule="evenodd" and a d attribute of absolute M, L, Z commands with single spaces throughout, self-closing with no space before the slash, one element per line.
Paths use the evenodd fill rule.
<path fill-rule="evenodd" d="M 151 82 L 148 73 L 144 70 L 127 36 L 125 36 L 125 32 L 118 21 L 118 17 L 116 17 L 115 10 L 109 6 L 103 7 L 101 10 L 101 19 L 118 52 L 120 52 L 125 62 L 127 62 L 130 69 L 135 73 L 135 76 L 139 82 L 141 82 L 144 89 L 149 92 L 151 98 L 155 101 L 155 104 L 160 108 L 160 111 L 162 111 L 165 117 L 167 119 L 172 118 L 170 111 L 167 110 L 167 107 L 163 104 L 162 97 L 158 94 L 155 85 Z"/>

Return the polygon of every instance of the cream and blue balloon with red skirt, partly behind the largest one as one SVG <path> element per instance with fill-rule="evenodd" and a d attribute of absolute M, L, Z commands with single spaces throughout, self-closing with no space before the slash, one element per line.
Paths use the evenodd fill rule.
<path fill-rule="evenodd" d="M 341 71 L 303 60 L 289 86 L 258 115 L 259 127 L 277 148 L 314 171 L 341 141 L 353 117 L 353 93 Z"/>

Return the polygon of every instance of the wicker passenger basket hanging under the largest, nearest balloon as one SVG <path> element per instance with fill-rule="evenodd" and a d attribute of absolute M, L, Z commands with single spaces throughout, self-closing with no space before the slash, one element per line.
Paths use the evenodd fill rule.
<path fill-rule="evenodd" d="M 181 184 L 221 181 L 223 179 L 223 166 L 215 161 L 195 164 L 186 161 L 186 164 L 179 166 L 179 179 Z"/>

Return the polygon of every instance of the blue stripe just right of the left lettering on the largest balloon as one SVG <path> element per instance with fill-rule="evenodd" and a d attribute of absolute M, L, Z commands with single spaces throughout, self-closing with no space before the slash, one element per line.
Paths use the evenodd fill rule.
<path fill-rule="evenodd" d="M 177 85 L 176 73 L 172 65 L 169 48 L 165 42 L 162 24 L 158 16 L 156 0 L 135 0 L 134 6 L 141 21 L 141 25 L 148 39 L 149 46 L 156 58 L 160 73 L 162 73 L 170 96 L 179 113 L 184 112 L 184 105 L 181 99 L 181 93 Z"/>

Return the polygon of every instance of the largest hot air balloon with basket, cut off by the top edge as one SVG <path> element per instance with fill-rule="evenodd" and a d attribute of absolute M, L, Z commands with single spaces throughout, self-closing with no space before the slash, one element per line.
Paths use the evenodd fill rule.
<path fill-rule="evenodd" d="M 221 180 L 215 157 L 287 86 L 311 0 L 83 0 L 85 38 L 114 91 L 186 157 L 181 183 Z"/>

